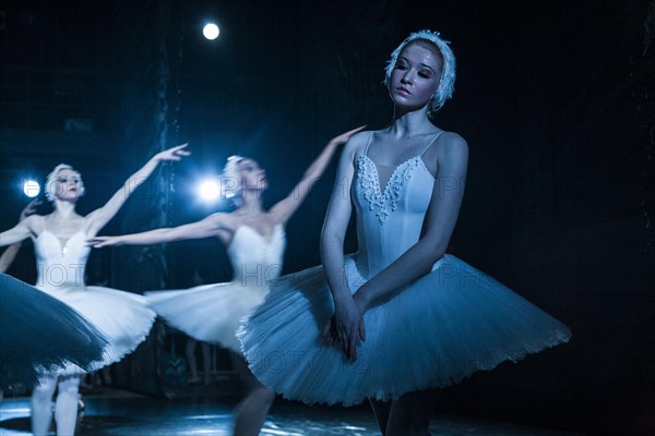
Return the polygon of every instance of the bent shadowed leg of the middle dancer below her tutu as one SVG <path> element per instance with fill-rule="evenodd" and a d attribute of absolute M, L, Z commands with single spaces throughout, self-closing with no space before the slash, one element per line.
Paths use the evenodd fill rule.
<path fill-rule="evenodd" d="M 260 434 L 275 392 L 262 385 L 252 375 L 242 355 L 231 353 L 235 370 L 246 385 L 248 392 L 235 410 L 235 435 L 257 436 Z"/>

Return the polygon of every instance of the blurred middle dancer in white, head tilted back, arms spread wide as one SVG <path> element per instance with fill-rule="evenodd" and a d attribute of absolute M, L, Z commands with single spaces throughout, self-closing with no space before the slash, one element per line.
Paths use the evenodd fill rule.
<path fill-rule="evenodd" d="M 247 393 L 235 410 L 234 434 L 258 435 L 274 400 L 274 392 L 250 373 L 240 353 L 235 332 L 240 318 L 269 292 L 269 281 L 282 270 L 285 226 L 325 171 L 338 146 L 362 128 L 331 140 L 310 165 L 294 190 L 269 210 L 262 194 L 269 186 L 265 171 L 246 157 L 231 157 L 224 171 L 237 208 L 176 227 L 121 237 L 90 239 L 95 247 L 122 244 L 155 244 L 187 239 L 218 238 L 227 247 L 234 268 L 229 283 L 206 284 L 190 290 L 148 293 L 158 315 L 187 335 L 219 343 L 233 353 L 233 362 Z M 225 179 L 226 178 L 226 179 Z M 253 272 L 257 271 L 254 275 Z"/>

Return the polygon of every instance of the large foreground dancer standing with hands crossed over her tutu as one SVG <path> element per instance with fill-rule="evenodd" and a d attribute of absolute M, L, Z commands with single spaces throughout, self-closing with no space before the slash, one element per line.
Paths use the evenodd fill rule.
<path fill-rule="evenodd" d="M 391 124 L 350 138 L 321 235 L 323 265 L 277 279 L 238 332 L 260 383 L 307 403 L 368 399 L 385 436 L 427 435 L 436 389 L 565 342 L 567 326 L 445 254 L 468 146 L 430 116 L 455 58 L 439 34 L 391 55 Z M 356 211 L 359 250 L 344 258 Z"/>

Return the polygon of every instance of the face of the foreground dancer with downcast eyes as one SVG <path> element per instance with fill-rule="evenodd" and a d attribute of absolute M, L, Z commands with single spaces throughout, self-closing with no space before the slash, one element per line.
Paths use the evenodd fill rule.
<path fill-rule="evenodd" d="M 427 44 L 409 43 L 396 61 L 389 82 L 393 102 L 406 110 L 426 106 L 441 80 L 441 57 L 437 48 Z"/>

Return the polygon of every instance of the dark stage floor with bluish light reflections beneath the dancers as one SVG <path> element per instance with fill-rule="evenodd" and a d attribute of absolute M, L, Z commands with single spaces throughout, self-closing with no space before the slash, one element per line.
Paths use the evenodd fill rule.
<path fill-rule="evenodd" d="M 237 398 L 184 396 L 165 400 L 104 388 L 85 393 L 76 436 L 230 435 Z M 437 415 L 432 436 L 581 436 L 495 421 Z M 29 398 L 5 398 L 0 404 L 0 435 L 29 435 Z M 262 435 L 379 435 L 367 408 L 306 407 L 276 400 Z"/>

